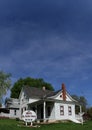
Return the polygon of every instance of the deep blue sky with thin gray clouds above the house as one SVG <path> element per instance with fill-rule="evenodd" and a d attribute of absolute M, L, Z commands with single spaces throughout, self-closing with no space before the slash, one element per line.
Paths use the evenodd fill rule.
<path fill-rule="evenodd" d="M 0 0 L 0 70 L 65 83 L 92 106 L 92 0 Z"/>

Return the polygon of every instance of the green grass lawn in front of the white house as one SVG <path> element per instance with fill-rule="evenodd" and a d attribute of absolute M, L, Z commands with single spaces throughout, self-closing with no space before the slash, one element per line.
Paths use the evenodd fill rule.
<path fill-rule="evenodd" d="M 0 130 L 90 130 L 92 121 L 85 122 L 84 125 L 69 123 L 55 123 L 40 125 L 39 128 L 26 127 L 23 123 L 16 120 L 0 119 Z"/>

